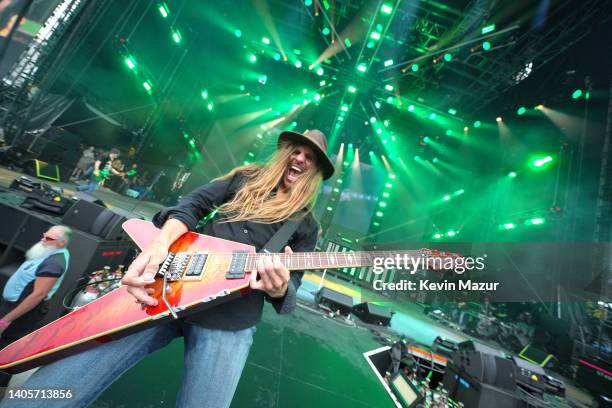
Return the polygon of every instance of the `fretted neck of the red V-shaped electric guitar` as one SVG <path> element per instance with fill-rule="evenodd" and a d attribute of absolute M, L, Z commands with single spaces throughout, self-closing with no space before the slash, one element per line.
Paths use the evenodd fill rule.
<path fill-rule="evenodd" d="M 360 251 L 360 252 L 296 252 L 293 254 L 249 254 L 245 270 L 257 269 L 264 258 L 278 256 L 290 271 L 312 269 L 341 269 L 373 266 L 375 258 L 394 258 L 401 262 L 407 258 L 420 258 L 431 254 L 427 249 L 416 251 Z"/>

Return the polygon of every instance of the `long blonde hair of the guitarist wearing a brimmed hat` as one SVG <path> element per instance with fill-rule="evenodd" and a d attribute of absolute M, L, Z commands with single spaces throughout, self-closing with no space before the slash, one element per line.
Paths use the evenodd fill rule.
<path fill-rule="evenodd" d="M 219 207 L 219 213 L 225 215 L 223 222 L 275 223 L 304 208 L 312 210 L 323 180 L 318 166 L 313 165 L 302 173 L 286 194 L 279 195 L 274 191 L 285 175 L 295 147 L 295 144 L 283 143 L 266 164 L 240 166 L 218 178 L 228 179 L 236 173 L 244 173 L 247 177 L 232 200 Z"/>

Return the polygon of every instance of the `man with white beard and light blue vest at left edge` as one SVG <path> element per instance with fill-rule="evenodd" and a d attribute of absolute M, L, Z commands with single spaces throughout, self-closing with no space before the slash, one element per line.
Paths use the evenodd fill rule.
<path fill-rule="evenodd" d="M 43 317 L 32 313 L 36 314 L 38 306 L 51 299 L 62 283 L 68 269 L 70 255 L 66 246 L 71 234 L 68 227 L 49 228 L 42 239 L 26 252 L 26 261 L 9 278 L 0 306 L 0 347 L 6 346 L 7 340 L 13 341 L 27 334 L 34 329 L 32 323 Z M 19 324 L 13 324 L 19 318 L 22 318 Z M 5 332 L 10 326 L 13 327 Z"/>

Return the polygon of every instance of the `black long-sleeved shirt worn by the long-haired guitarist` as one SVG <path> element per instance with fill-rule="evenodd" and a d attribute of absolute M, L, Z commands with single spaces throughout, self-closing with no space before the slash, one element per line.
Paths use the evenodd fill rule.
<path fill-rule="evenodd" d="M 240 189 L 246 176 L 236 174 L 225 180 L 208 183 L 185 196 L 176 207 L 167 208 L 153 217 L 153 223 L 162 227 L 168 219 L 183 222 L 190 231 L 196 230 L 198 221 L 221 204 L 228 202 Z M 274 233 L 284 224 L 277 222 L 263 224 L 251 221 L 220 222 L 218 214 L 207 222 L 200 231 L 217 238 L 228 239 L 253 245 L 260 251 Z M 294 252 L 313 251 L 317 242 L 319 226 L 313 215 L 308 212 L 287 245 Z M 287 294 L 278 299 L 267 296 L 262 291 L 251 291 L 248 295 L 190 315 L 189 323 L 220 330 L 241 330 L 255 325 L 261 318 L 263 301 L 266 298 L 272 303 L 277 313 L 290 313 L 295 308 L 297 289 L 302 282 L 303 272 L 291 272 Z"/>

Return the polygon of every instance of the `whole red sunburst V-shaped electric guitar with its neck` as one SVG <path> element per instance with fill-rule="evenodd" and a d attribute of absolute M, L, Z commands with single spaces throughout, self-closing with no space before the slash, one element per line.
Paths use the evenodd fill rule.
<path fill-rule="evenodd" d="M 137 219 L 126 221 L 123 229 L 141 249 L 159 233 L 150 222 Z M 396 254 L 456 256 L 430 250 L 276 255 L 292 271 L 372 266 L 374 257 Z M 120 286 L 5 347 L 0 370 L 20 373 L 246 294 L 259 259 L 269 255 L 255 253 L 250 245 L 187 232 L 171 245 L 149 285 L 157 306 L 142 307 Z M 172 288 L 168 294 L 166 285 Z"/>

